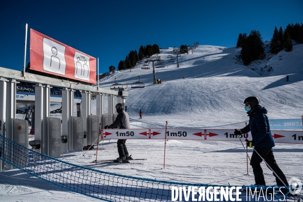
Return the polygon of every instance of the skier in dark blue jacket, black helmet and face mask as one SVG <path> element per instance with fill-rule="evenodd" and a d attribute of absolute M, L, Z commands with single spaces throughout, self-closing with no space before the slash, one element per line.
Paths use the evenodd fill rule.
<path fill-rule="evenodd" d="M 252 140 L 246 140 L 246 145 L 250 148 L 254 146 L 254 151 L 251 155 L 250 166 L 254 175 L 256 185 L 266 185 L 263 170 L 260 166 L 262 158 L 256 153 L 256 151 L 264 158 L 266 163 L 273 169 L 273 171 L 280 177 L 276 177 L 278 186 L 288 186 L 285 175 L 276 163 L 272 147 L 275 146 L 274 138 L 270 131 L 270 125 L 267 117 L 266 108 L 259 105 L 259 99 L 257 97 L 248 97 L 244 100 L 245 111 L 249 116 L 249 124 L 241 129 L 235 129 L 235 135 L 241 135 L 251 132 Z"/>

